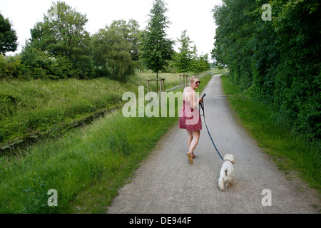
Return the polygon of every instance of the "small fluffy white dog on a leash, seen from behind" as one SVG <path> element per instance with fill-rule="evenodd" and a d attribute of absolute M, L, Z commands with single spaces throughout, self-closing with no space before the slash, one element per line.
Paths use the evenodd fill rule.
<path fill-rule="evenodd" d="M 225 162 L 222 165 L 220 170 L 220 178 L 218 178 L 218 186 L 220 190 L 224 191 L 224 186 L 226 184 L 227 187 L 233 185 L 234 182 L 234 167 L 233 164 L 235 163 L 234 155 L 224 155 Z"/>

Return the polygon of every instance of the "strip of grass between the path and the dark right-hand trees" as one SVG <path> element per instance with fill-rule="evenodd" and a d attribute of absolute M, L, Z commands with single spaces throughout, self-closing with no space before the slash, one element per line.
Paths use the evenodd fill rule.
<path fill-rule="evenodd" d="M 272 106 L 250 98 L 230 82 L 228 75 L 222 76 L 222 81 L 225 94 L 233 95 L 228 101 L 242 124 L 259 146 L 274 158 L 280 170 L 299 171 L 310 187 L 320 191 L 320 145 L 291 134 L 290 120 L 279 115 Z"/>

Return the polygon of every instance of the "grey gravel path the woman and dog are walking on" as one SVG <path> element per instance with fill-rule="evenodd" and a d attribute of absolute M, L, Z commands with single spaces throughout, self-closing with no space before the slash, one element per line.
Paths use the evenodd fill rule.
<path fill-rule="evenodd" d="M 235 184 L 220 192 L 218 177 L 223 162 L 216 153 L 205 124 L 195 149 L 194 164 L 186 152 L 187 133 L 177 127 L 158 142 L 142 162 L 133 180 L 124 186 L 108 213 L 215 214 L 215 213 L 318 213 L 320 200 L 297 180 L 287 178 L 235 121 L 220 76 L 213 76 L 203 93 L 205 118 L 222 154 L 236 157 Z M 203 120 L 203 118 L 202 118 Z M 263 190 L 271 192 L 271 206 L 263 206 Z"/>

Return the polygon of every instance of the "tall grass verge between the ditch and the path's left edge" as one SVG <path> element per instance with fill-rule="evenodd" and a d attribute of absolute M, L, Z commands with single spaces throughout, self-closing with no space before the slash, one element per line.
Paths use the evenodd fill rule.
<path fill-rule="evenodd" d="M 200 90 L 209 80 L 202 78 Z M 0 157 L 0 213 L 105 213 L 177 122 L 178 117 L 124 118 L 118 110 L 61 138 L 41 140 L 21 155 Z M 51 189 L 57 190 L 58 207 L 47 204 Z"/>

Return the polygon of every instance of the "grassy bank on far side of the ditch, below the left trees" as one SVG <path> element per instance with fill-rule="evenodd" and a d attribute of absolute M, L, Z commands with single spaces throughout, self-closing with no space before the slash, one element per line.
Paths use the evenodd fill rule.
<path fill-rule="evenodd" d="M 126 91 L 136 93 L 145 86 L 147 78 L 155 73 L 132 76 L 126 83 L 108 78 L 93 80 L 31 80 L 0 81 L 0 146 L 17 138 L 51 128 L 63 128 L 101 110 L 121 106 L 121 95 Z M 179 75 L 164 73 L 165 87 L 179 85 Z M 151 83 L 156 90 L 156 83 Z"/>

